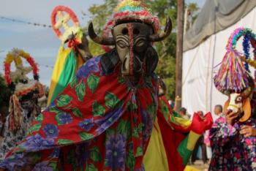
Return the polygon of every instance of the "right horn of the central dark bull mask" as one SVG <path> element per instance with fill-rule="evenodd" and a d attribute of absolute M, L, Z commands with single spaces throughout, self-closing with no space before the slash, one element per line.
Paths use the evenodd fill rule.
<path fill-rule="evenodd" d="M 159 42 L 165 39 L 170 35 L 170 32 L 172 31 L 172 21 L 170 18 L 166 19 L 166 24 L 165 24 L 165 31 L 159 31 L 157 34 L 153 34 L 149 36 L 149 41 L 151 42 Z"/>

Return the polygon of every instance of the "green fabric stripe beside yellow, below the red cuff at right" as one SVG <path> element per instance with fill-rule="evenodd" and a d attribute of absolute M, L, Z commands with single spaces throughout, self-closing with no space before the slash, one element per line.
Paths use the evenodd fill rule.
<path fill-rule="evenodd" d="M 192 151 L 189 151 L 189 149 L 187 149 L 187 140 L 188 137 L 186 137 L 186 139 L 184 139 L 180 145 L 178 145 L 178 153 L 181 155 L 182 161 L 184 166 L 187 165 L 187 163 L 189 162 L 190 156 L 192 155 Z"/>

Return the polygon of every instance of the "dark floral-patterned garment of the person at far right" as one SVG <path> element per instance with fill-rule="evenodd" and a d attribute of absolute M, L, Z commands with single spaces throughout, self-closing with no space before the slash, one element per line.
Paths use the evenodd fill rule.
<path fill-rule="evenodd" d="M 239 134 L 241 126 L 255 128 L 255 124 L 256 120 L 250 118 L 245 123 L 230 126 L 224 117 L 219 117 L 210 130 L 213 154 L 209 170 L 256 170 L 256 137 Z"/>

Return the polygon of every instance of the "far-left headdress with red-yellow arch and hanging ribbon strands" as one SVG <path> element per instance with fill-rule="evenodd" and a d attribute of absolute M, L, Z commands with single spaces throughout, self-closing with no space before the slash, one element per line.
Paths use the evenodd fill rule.
<path fill-rule="evenodd" d="M 26 59 L 30 66 L 23 66 L 22 59 Z M 11 72 L 11 64 L 15 63 L 16 70 Z M 21 128 L 23 122 L 23 115 L 20 106 L 20 99 L 32 91 L 38 90 L 39 96 L 43 96 L 44 88 L 39 83 L 38 66 L 29 53 L 18 48 L 12 49 L 7 54 L 4 61 L 4 78 L 7 86 L 13 86 L 13 94 L 10 96 L 9 104 L 9 118 L 8 118 L 8 129 L 10 131 L 16 131 Z M 34 80 L 31 80 L 27 75 L 32 72 Z"/>

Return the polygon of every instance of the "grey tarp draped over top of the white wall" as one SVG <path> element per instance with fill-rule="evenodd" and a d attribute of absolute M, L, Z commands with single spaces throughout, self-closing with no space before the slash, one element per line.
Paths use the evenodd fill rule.
<path fill-rule="evenodd" d="M 197 20 L 184 36 L 184 51 L 196 47 L 206 37 L 232 26 L 255 7 L 255 0 L 206 0 Z"/>

